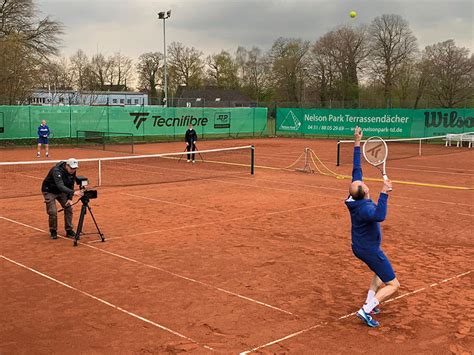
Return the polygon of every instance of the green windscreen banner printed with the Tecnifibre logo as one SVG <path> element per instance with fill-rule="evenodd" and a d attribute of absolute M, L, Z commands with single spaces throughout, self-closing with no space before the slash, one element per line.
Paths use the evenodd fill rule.
<path fill-rule="evenodd" d="M 42 120 L 54 138 L 73 138 L 77 131 L 184 137 L 189 124 L 201 137 L 268 134 L 262 107 L 0 106 L 0 139 L 36 138 Z"/>

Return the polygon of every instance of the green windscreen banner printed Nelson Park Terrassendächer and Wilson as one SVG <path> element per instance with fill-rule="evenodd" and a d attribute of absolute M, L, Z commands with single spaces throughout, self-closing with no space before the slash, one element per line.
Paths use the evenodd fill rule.
<path fill-rule="evenodd" d="M 277 109 L 278 134 L 351 136 L 354 127 L 368 136 L 416 138 L 474 131 L 474 109 Z"/>

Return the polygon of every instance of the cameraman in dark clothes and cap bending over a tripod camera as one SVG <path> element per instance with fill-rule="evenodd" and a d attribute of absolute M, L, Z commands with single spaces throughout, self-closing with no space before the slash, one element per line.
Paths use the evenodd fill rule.
<path fill-rule="evenodd" d="M 49 216 L 49 231 L 51 239 L 57 239 L 58 212 L 56 209 L 56 200 L 64 208 L 64 224 L 66 236 L 74 238 L 72 224 L 72 198 L 74 195 L 81 197 L 82 191 L 74 191 L 74 182 L 78 182 L 76 178 L 76 170 L 79 163 L 76 159 L 70 158 L 67 161 L 61 161 L 49 171 L 43 180 L 41 192 L 46 203 L 46 212 Z"/>

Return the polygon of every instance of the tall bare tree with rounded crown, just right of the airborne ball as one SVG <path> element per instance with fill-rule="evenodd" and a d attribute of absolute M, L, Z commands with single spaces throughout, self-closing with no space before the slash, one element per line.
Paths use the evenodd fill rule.
<path fill-rule="evenodd" d="M 404 63 L 418 50 L 416 37 L 400 15 L 376 17 L 369 29 L 372 73 L 384 88 L 384 98 L 391 105 L 394 80 Z"/>

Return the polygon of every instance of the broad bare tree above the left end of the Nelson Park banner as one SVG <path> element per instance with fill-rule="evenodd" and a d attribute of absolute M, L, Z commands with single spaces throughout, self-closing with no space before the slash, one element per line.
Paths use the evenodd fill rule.
<path fill-rule="evenodd" d="M 309 42 L 278 38 L 270 49 L 272 84 L 281 100 L 299 102 L 309 63 Z"/>

